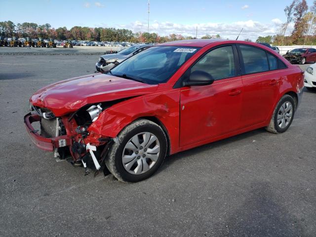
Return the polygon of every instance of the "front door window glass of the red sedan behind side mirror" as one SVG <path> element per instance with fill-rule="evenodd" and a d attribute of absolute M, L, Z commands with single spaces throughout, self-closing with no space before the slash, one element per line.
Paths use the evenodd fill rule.
<path fill-rule="evenodd" d="M 214 80 L 236 76 L 233 47 L 223 46 L 208 52 L 191 68 L 191 73 L 194 71 L 206 72 Z"/>

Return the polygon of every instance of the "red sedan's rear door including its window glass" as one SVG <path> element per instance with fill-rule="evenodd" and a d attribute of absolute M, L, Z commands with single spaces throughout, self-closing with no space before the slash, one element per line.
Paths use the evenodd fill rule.
<path fill-rule="evenodd" d="M 242 71 L 241 123 L 249 127 L 267 120 L 274 109 L 281 81 L 278 59 L 268 51 L 237 45 Z M 284 65 L 284 64 L 283 64 Z"/>

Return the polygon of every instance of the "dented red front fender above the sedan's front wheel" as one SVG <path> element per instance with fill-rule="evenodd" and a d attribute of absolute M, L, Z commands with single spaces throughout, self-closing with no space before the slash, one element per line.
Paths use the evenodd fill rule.
<path fill-rule="evenodd" d="M 162 103 L 163 102 L 163 103 Z M 117 137 L 118 133 L 137 118 L 155 117 L 164 125 L 169 135 L 170 155 L 179 149 L 180 89 L 163 93 L 159 91 L 120 102 L 103 111 L 88 131 L 103 137 Z M 176 145 L 174 145 L 176 144 Z"/>

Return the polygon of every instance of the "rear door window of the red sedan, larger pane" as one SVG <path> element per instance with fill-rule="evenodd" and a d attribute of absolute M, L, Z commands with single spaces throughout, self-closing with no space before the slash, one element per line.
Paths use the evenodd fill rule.
<path fill-rule="evenodd" d="M 244 64 L 244 74 L 269 71 L 266 51 L 260 48 L 239 45 Z"/>

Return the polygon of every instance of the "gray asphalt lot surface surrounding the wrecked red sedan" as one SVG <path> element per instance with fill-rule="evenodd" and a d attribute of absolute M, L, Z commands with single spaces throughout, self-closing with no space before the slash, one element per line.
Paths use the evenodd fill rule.
<path fill-rule="evenodd" d="M 1 237 L 316 236 L 316 92 L 305 90 L 285 133 L 182 152 L 127 184 L 56 162 L 24 129 L 32 93 L 93 73 L 97 58 L 0 55 Z"/>

